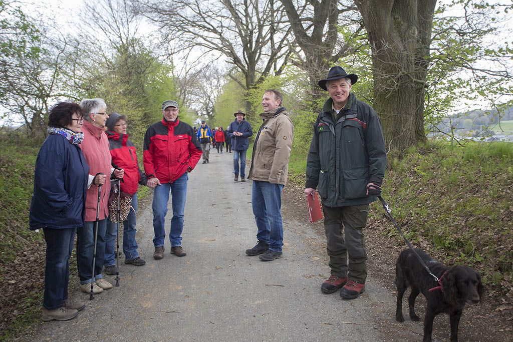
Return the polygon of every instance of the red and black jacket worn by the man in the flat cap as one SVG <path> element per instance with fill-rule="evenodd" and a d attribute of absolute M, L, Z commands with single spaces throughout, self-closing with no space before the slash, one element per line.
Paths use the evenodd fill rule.
<path fill-rule="evenodd" d="M 143 164 L 149 178 L 161 183 L 173 183 L 190 167 L 194 169 L 202 154 L 192 127 L 179 119 L 151 125 L 144 136 Z"/>

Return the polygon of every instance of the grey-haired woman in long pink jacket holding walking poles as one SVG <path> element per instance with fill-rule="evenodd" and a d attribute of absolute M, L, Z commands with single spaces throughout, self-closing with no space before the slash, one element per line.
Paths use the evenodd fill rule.
<path fill-rule="evenodd" d="M 107 176 L 123 178 L 123 170 L 114 170 L 109 151 L 109 142 L 104 133 L 105 122 L 109 117 L 107 105 L 101 98 L 86 98 L 80 103 L 84 110 L 84 141 L 81 144 L 82 152 L 89 165 L 90 187 L 86 193 L 86 218 L 84 227 L 78 229 L 76 239 L 76 264 L 80 289 L 89 293 L 91 280 L 93 293 L 100 293 L 112 288 L 107 280 L 103 279 L 102 268 L 105 256 L 105 232 L 107 230 L 107 217 L 109 216 L 108 199 L 110 194 L 110 182 L 106 182 Z M 96 243 L 96 260 L 94 272 L 92 259 L 94 253 L 94 227 L 96 220 L 96 207 L 98 204 L 98 186 L 102 185 L 100 194 L 100 211 L 98 216 L 98 232 Z M 94 279 L 92 279 L 94 277 Z"/>

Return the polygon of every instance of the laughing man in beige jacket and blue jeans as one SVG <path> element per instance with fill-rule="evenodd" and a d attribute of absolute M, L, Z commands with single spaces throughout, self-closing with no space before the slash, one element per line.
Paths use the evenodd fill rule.
<path fill-rule="evenodd" d="M 248 175 L 248 179 L 253 180 L 251 203 L 257 222 L 258 243 L 246 250 L 246 254 L 262 254 L 262 261 L 272 261 L 282 256 L 282 189 L 287 182 L 294 134 L 292 121 L 282 102 L 283 97 L 278 90 L 264 92 L 264 112 L 260 114 L 264 123 L 255 138 Z"/>

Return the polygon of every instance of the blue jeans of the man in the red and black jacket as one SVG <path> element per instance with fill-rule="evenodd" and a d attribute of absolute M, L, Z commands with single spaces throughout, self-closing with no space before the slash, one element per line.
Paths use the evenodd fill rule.
<path fill-rule="evenodd" d="M 173 183 L 157 185 L 153 191 L 153 232 L 155 234 L 153 237 L 153 245 L 155 247 L 164 246 L 164 239 L 166 238 L 164 225 L 166 223 L 169 191 L 171 191 L 171 204 L 173 209 L 169 240 L 171 241 L 171 247 L 182 245 L 187 180 L 189 180 L 189 176 L 187 173 L 184 173 Z"/>

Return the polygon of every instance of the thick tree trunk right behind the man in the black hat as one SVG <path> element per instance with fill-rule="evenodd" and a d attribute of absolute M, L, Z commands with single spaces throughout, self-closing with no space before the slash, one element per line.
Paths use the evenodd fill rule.
<path fill-rule="evenodd" d="M 372 48 L 374 109 L 390 149 L 426 140 L 424 95 L 436 0 L 357 0 Z"/>

